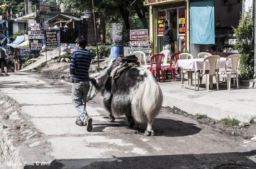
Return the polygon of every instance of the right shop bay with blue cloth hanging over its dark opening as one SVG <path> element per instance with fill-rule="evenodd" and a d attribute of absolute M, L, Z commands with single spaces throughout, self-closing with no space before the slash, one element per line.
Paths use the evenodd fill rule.
<path fill-rule="evenodd" d="M 242 4 L 241 0 L 191 0 L 190 53 L 209 52 L 220 57 L 238 53 L 233 28 L 239 24 Z"/>

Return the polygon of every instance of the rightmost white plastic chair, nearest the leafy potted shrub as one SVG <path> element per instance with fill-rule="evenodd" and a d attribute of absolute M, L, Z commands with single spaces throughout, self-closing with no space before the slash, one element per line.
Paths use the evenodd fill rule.
<path fill-rule="evenodd" d="M 234 75 L 234 84 L 235 84 L 235 78 L 237 79 L 237 89 L 239 89 L 237 69 L 238 69 L 238 66 L 239 66 L 240 57 L 241 57 L 240 54 L 229 55 L 226 59 L 225 70 L 219 72 L 219 75 L 227 76 L 227 88 L 228 88 L 228 90 L 230 90 L 231 76 L 232 75 Z M 231 59 L 231 62 L 232 62 L 232 67 L 228 68 L 227 65 L 228 65 L 228 62 L 229 62 L 230 59 Z"/>

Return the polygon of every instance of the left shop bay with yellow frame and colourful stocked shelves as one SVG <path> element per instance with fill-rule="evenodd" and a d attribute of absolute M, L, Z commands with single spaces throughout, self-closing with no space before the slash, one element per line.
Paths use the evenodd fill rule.
<path fill-rule="evenodd" d="M 169 28 L 173 30 L 172 53 L 186 50 L 186 2 L 175 0 L 157 0 L 144 2 L 150 6 L 150 38 L 153 52 L 163 50 L 164 21 L 168 21 Z"/>

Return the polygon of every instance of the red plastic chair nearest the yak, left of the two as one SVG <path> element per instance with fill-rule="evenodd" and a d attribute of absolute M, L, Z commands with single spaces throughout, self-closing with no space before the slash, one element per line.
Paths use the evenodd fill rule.
<path fill-rule="evenodd" d="M 163 81 L 165 81 L 165 69 L 162 68 L 164 54 L 154 54 L 152 55 L 150 60 L 150 71 L 152 71 L 152 73 L 158 79 L 158 81 L 160 81 L 160 75 L 162 76 Z M 153 65 L 153 63 L 155 63 L 155 65 Z"/>

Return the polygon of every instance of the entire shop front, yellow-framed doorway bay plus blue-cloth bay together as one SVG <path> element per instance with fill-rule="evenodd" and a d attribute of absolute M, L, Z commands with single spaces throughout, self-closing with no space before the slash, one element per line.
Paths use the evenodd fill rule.
<path fill-rule="evenodd" d="M 172 52 L 197 57 L 209 52 L 227 57 L 237 53 L 233 27 L 239 24 L 245 0 L 145 0 L 150 9 L 150 38 L 154 53 L 163 50 L 163 21 L 173 30 Z"/>

